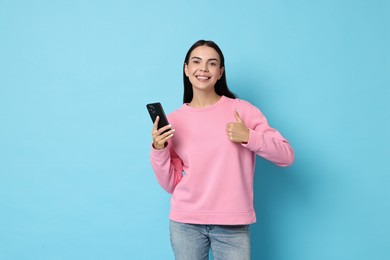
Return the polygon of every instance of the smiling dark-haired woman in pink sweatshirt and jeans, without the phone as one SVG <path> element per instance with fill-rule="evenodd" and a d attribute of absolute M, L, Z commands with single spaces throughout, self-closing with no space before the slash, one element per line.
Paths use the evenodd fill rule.
<path fill-rule="evenodd" d="M 172 194 L 175 258 L 208 259 L 211 248 L 215 260 L 250 259 L 256 154 L 288 166 L 293 150 L 258 108 L 230 92 L 214 42 L 188 50 L 183 78 L 184 104 L 168 115 L 170 125 L 157 129 L 156 119 L 150 156 L 157 181 Z"/>

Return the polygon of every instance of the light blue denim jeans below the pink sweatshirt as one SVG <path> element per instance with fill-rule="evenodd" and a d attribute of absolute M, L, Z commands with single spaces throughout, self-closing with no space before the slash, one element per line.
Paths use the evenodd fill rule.
<path fill-rule="evenodd" d="M 197 225 L 170 221 L 176 260 L 249 260 L 249 225 Z"/>

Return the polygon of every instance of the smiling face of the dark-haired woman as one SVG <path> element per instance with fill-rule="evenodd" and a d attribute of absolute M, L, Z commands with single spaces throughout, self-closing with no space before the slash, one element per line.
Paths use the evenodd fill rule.
<path fill-rule="evenodd" d="M 221 59 L 213 48 L 199 46 L 191 52 L 188 63 L 184 65 L 184 72 L 194 91 L 214 91 L 215 83 L 222 77 L 224 68 L 221 68 Z"/>

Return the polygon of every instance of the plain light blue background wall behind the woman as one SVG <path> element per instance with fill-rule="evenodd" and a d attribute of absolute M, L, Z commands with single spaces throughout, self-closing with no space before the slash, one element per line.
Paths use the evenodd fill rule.
<path fill-rule="evenodd" d="M 386 0 L 0 0 L 0 259 L 172 259 L 148 102 L 198 39 L 295 149 L 258 159 L 253 259 L 390 259 Z"/>

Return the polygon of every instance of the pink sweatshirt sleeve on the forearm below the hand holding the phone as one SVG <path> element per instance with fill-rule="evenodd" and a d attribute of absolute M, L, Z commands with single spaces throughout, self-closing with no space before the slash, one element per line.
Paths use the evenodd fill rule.
<path fill-rule="evenodd" d="M 162 150 L 151 148 L 150 162 L 160 186 L 168 193 L 173 193 L 182 179 L 183 163 L 171 145 Z"/>

